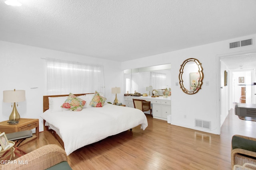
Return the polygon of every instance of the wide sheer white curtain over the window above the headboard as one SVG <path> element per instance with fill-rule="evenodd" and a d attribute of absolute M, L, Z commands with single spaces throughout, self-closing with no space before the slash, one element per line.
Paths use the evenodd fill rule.
<path fill-rule="evenodd" d="M 46 59 L 47 94 L 104 93 L 102 65 Z"/>

